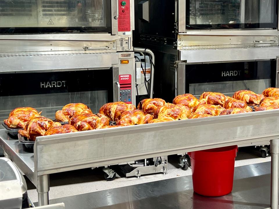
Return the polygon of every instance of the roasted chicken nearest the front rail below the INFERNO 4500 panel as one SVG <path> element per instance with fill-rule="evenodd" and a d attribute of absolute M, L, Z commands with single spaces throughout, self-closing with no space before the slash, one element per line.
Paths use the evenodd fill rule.
<path fill-rule="evenodd" d="M 141 110 L 130 110 L 121 114 L 121 118 L 117 122 L 117 125 L 129 126 L 146 124 L 152 119 L 150 114 L 145 115 Z"/>

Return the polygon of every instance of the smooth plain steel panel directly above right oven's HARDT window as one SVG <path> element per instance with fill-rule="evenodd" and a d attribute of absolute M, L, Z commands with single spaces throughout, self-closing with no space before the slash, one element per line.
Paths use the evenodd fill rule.
<path fill-rule="evenodd" d="M 278 47 L 218 48 L 179 51 L 179 60 L 187 63 L 270 60 L 279 56 Z"/>

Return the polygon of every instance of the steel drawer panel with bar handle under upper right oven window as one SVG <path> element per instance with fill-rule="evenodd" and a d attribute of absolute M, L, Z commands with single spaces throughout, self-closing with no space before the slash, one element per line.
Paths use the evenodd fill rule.
<path fill-rule="evenodd" d="M 178 35 L 177 49 L 195 47 L 223 48 L 239 47 L 248 45 L 256 46 L 278 46 L 278 35 L 275 36 L 217 36 L 217 35 Z"/>

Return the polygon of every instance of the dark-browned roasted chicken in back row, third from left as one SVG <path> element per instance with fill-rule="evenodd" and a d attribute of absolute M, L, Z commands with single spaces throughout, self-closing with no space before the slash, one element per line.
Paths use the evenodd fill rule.
<path fill-rule="evenodd" d="M 132 104 L 126 104 L 125 102 L 111 102 L 103 105 L 103 107 L 100 108 L 99 113 L 107 116 L 109 120 L 117 122 L 120 120 L 122 113 L 135 109 L 135 105 Z"/>

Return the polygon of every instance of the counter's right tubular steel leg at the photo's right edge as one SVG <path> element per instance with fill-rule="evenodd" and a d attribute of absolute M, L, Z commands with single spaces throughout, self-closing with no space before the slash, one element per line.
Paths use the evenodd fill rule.
<path fill-rule="evenodd" d="M 279 139 L 271 140 L 271 209 L 279 209 Z"/>

